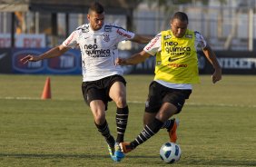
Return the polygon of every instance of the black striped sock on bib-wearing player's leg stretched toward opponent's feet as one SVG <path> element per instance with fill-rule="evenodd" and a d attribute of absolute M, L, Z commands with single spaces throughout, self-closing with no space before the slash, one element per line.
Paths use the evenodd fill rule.
<path fill-rule="evenodd" d="M 133 148 L 137 147 L 138 145 L 142 144 L 143 142 L 146 142 L 148 139 L 150 139 L 155 133 L 158 133 L 158 131 L 162 127 L 162 122 L 158 119 L 154 119 L 152 123 L 149 123 L 145 125 L 142 133 L 140 133 L 137 138 L 131 142 L 131 146 Z"/>

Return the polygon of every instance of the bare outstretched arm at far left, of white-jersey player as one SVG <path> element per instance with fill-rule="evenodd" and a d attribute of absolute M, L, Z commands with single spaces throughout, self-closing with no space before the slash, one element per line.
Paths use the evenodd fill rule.
<path fill-rule="evenodd" d="M 44 54 L 35 56 L 32 54 L 28 54 L 26 55 L 24 58 L 20 59 L 20 61 L 23 64 L 26 64 L 28 62 L 37 62 L 43 59 L 48 59 L 48 58 L 53 58 L 53 57 L 57 57 L 60 56 L 62 54 L 64 54 L 67 50 L 69 50 L 69 47 L 66 47 L 62 44 L 52 48 L 51 50 L 45 52 Z"/>

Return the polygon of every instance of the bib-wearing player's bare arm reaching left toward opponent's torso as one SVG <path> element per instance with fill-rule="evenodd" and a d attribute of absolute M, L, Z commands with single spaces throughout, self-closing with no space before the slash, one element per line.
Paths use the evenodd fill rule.
<path fill-rule="evenodd" d="M 117 65 L 140 64 L 140 63 L 144 62 L 150 56 L 151 56 L 151 54 L 148 54 L 145 51 L 142 51 L 140 53 L 133 54 L 132 57 L 127 58 L 127 59 L 117 58 L 115 60 L 115 64 L 117 64 Z"/>

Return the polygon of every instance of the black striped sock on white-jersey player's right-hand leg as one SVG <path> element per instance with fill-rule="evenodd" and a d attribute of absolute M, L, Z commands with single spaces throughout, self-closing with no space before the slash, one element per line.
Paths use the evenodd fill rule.
<path fill-rule="evenodd" d="M 117 131 L 116 142 L 123 142 L 124 133 L 128 123 L 128 115 L 129 115 L 128 106 L 124 108 L 116 109 L 116 116 L 115 116 L 116 131 Z"/>

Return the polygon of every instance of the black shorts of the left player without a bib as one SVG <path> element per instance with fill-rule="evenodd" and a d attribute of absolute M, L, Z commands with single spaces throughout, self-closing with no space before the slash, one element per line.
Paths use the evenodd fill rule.
<path fill-rule="evenodd" d="M 109 96 L 109 91 L 115 82 L 122 82 L 126 85 L 123 76 L 118 74 L 108 76 L 97 81 L 83 82 L 82 92 L 84 95 L 84 101 L 90 106 L 92 101 L 102 100 L 105 104 L 105 110 L 107 110 L 107 103 L 112 101 Z"/>

